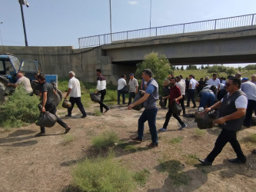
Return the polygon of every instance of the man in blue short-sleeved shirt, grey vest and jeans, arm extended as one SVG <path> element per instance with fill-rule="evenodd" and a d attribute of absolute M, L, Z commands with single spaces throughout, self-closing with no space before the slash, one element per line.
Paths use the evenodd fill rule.
<path fill-rule="evenodd" d="M 144 124 L 148 121 L 149 131 L 151 133 L 151 144 L 147 144 L 147 147 L 158 147 L 158 132 L 156 129 L 156 115 L 158 114 L 158 83 L 152 78 L 152 71 L 145 69 L 142 72 L 142 78 L 148 82 L 145 94 L 142 98 L 135 103 L 128 105 L 128 109 L 133 108 L 137 104 L 144 104 L 145 110 L 138 119 L 138 137 L 131 137 L 132 140 L 141 142 L 143 139 Z"/>

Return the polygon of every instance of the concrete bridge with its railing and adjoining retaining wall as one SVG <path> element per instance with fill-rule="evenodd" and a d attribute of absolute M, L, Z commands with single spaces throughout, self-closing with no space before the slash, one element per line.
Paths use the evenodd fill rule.
<path fill-rule="evenodd" d="M 224 27 L 218 27 L 223 21 Z M 37 59 L 45 74 L 58 74 L 60 78 L 67 77 L 68 71 L 73 70 L 82 81 L 95 82 L 95 70 L 101 68 L 108 81 L 116 84 L 121 74 L 134 73 L 136 64 L 152 51 L 165 55 L 171 65 L 256 62 L 255 21 L 254 15 L 242 15 L 79 38 L 79 49 L 2 46 L 0 52 L 12 52 L 20 60 Z M 178 29 L 174 33 L 170 28 Z M 95 43 L 95 39 L 98 42 Z"/>

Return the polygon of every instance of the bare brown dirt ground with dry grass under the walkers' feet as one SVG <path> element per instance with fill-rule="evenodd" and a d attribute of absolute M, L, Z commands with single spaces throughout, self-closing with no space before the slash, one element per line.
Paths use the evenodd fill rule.
<path fill-rule="evenodd" d="M 214 147 L 220 133 L 218 127 L 199 131 L 194 118 L 181 119 L 188 124 L 178 131 L 178 121 L 171 117 L 168 131 L 158 133 L 159 146 L 147 148 L 151 141 L 148 124 L 145 124 L 144 142 L 136 144 L 131 136 L 137 133 L 138 118 L 141 111 L 128 111 L 125 105 L 111 105 L 111 110 L 101 116 L 95 114 L 98 104 L 86 108 L 88 117 L 80 118 L 81 113 L 74 108 L 72 118 L 65 118 L 66 110 L 58 110 L 58 116 L 71 126 L 64 129 L 55 124 L 46 129 L 45 137 L 34 137 L 39 127 L 13 128 L 11 131 L 0 129 L 0 191 L 66 191 L 72 184 L 71 172 L 76 163 L 85 157 L 98 154 L 91 147 L 91 138 L 105 131 L 115 131 L 123 146 L 116 146 L 115 158 L 131 171 L 150 171 L 148 182 L 136 191 L 255 191 L 256 154 L 251 154 L 256 144 L 244 138 L 256 133 L 255 127 L 239 131 L 238 141 L 248 158 L 246 164 L 231 164 L 229 158 L 235 154 L 230 144 L 215 159 L 210 167 L 198 164 L 197 158 L 204 158 Z M 188 113 L 195 109 L 188 108 Z M 157 128 L 165 121 L 166 109 L 159 109 Z M 69 136 L 68 136 L 69 135 Z M 71 138 L 71 139 L 68 139 Z M 175 142 L 176 141 L 176 142 Z M 126 149 L 126 150 L 125 150 Z M 162 170 L 165 164 L 181 164 L 180 170 Z M 173 177 L 175 176 L 175 178 Z M 178 177 L 188 178 L 188 182 L 175 184 Z"/>

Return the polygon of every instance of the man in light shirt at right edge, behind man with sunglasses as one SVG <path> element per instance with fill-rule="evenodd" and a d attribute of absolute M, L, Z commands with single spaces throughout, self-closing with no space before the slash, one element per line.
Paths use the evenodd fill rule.
<path fill-rule="evenodd" d="M 251 126 L 251 116 L 253 111 L 256 111 L 256 85 L 248 80 L 248 78 L 243 78 L 241 81 L 241 91 L 243 91 L 248 98 L 248 106 L 246 108 L 246 115 L 244 119 L 245 127 Z"/>

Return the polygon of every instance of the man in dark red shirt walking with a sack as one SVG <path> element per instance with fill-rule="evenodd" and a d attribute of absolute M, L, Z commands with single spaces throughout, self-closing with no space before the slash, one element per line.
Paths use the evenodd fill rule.
<path fill-rule="evenodd" d="M 168 96 L 164 97 L 163 99 L 169 98 L 169 101 L 171 101 L 171 102 L 169 102 L 169 109 L 168 109 L 168 112 L 165 116 L 165 124 L 158 131 L 166 131 L 167 130 L 167 126 L 168 126 L 168 123 L 170 121 L 171 114 L 173 114 L 173 117 L 175 117 L 175 119 L 177 119 L 178 122 L 181 124 L 181 127 L 178 130 L 182 130 L 183 128 L 187 127 L 187 124 L 185 124 L 183 121 L 181 121 L 181 118 L 178 117 L 178 114 L 175 114 L 174 111 L 172 111 L 172 109 L 171 109 L 171 104 L 173 104 L 172 101 L 175 100 L 176 102 L 178 102 L 183 97 L 182 97 L 180 88 L 178 88 L 175 84 L 176 83 L 176 78 L 171 78 L 170 81 L 171 81 L 171 83 L 170 83 L 170 94 Z"/>

